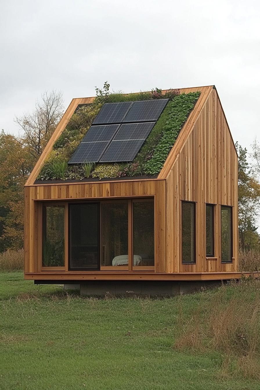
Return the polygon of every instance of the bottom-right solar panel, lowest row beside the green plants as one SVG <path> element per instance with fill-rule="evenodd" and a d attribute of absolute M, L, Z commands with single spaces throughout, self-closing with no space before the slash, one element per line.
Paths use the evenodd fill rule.
<path fill-rule="evenodd" d="M 101 163 L 133 161 L 145 140 L 112 141 L 101 157 Z"/>

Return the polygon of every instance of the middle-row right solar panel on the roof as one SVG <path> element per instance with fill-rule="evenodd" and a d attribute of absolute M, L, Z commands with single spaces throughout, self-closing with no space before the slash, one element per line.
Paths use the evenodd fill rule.
<path fill-rule="evenodd" d="M 113 141 L 146 139 L 154 127 L 155 122 L 123 123 Z"/>

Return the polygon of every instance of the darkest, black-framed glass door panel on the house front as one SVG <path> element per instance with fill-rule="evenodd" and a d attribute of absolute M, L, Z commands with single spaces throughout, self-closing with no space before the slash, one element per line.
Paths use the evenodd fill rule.
<path fill-rule="evenodd" d="M 99 204 L 69 205 L 70 269 L 99 269 Z"/>

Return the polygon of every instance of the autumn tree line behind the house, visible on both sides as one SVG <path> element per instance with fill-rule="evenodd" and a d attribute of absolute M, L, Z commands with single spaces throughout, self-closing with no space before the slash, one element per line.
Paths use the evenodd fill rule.
<path fill-rule="evenodd" d="M 23 248 L 23 187 L 63 111 L 62 92 L 46 91 L 32 112 L 14 118 L 18 136 L 0 133 L 0 252 Z M 253 142 L 251 156 L 246 148 L 235 146 L 239 155 L 239 243 L 241 249 L 260 250 L 260 144 Z"/>

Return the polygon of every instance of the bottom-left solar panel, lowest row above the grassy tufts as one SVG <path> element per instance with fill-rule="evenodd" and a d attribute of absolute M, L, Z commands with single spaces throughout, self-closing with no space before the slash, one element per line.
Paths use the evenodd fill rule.
<path fill-rule="evenodd" d="M 69 164 L 80 164 L 99 161 L 101 154 L 106 149 L 109 141 L 81 142 L 78 149 L 69 160 Z"/>

